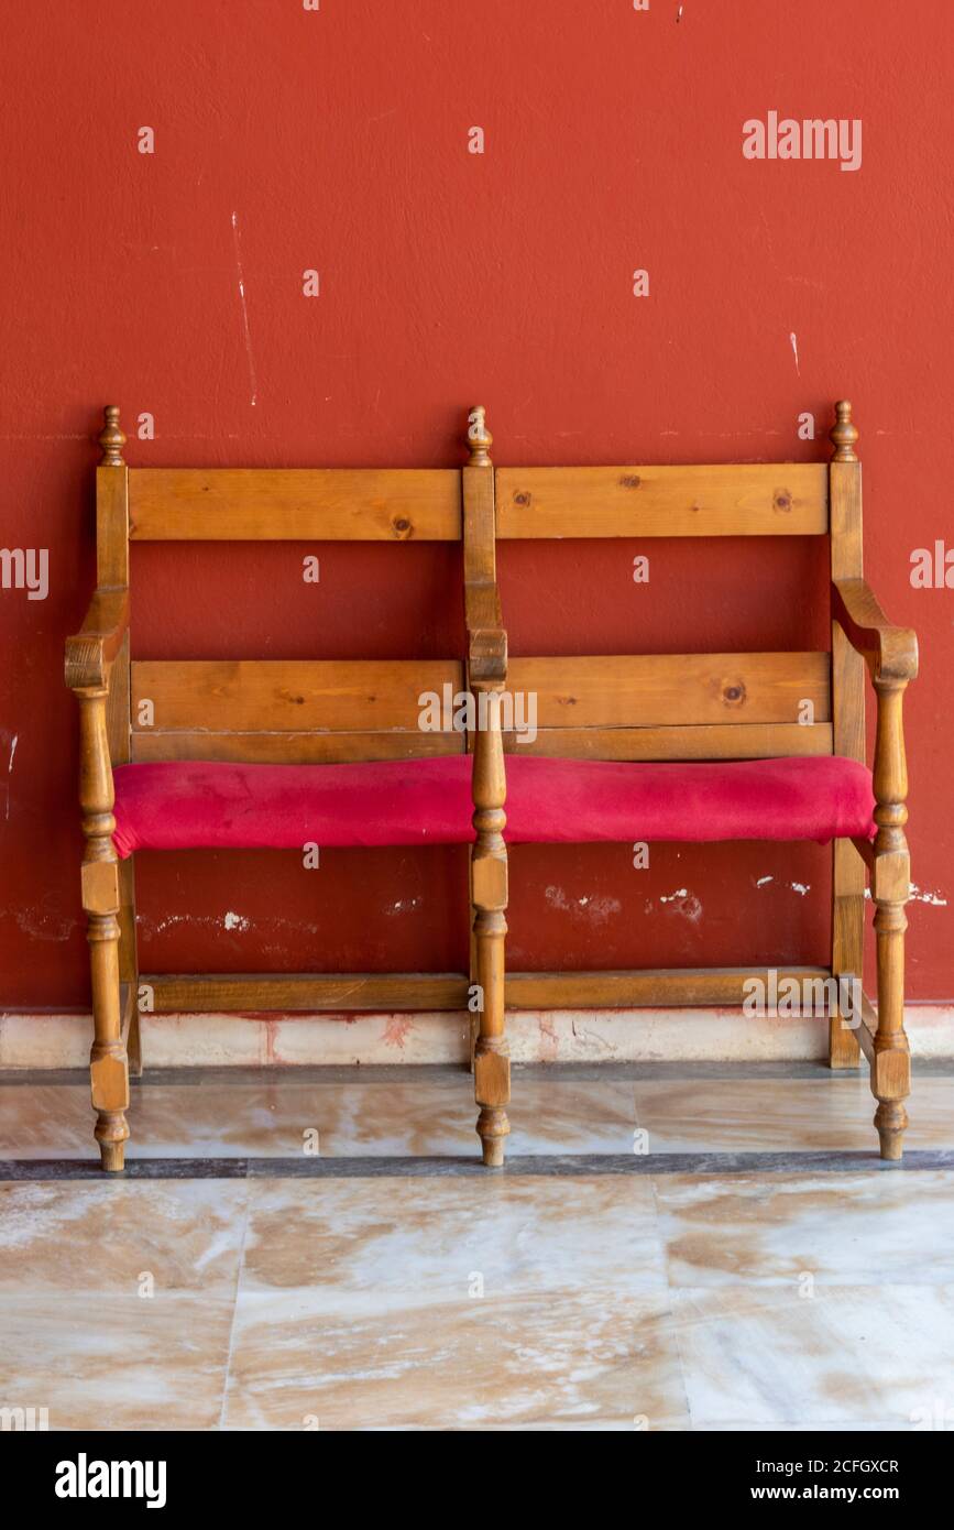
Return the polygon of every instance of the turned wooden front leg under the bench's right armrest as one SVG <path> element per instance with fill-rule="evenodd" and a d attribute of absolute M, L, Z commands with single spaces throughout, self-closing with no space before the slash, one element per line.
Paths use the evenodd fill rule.
<path fill-rule="evenodd" d="M 904 932 L 908 926 L 905 903 L 911 887 L 911 866 L 904 826 L 908 819 L 908 791 L 904 742 L 900 739 L 900 698 L 904 684 L 876 679 L 878 744 L 874 750 L 874 869 L 871 898 L 878 939 L 878 1031 L 871 1060 L 871 1092 L 878 1100 L 874 1126 L 881 1157 L 899 1160 L 908 1112 L 904 1108 L 911 1088 L 911 1059 L 904 1028 Z M 884 762 L 879 768 L 879 759 Z"/>

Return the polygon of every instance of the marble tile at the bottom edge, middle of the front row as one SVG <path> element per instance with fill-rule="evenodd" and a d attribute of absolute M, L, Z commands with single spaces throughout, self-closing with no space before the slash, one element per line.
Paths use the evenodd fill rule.
<path fill-rule="evenodd" d="M 242 1296 L 226 1429 L 685 1429 L 665 1299 L 549 1291 L 381 1317 Z"/>

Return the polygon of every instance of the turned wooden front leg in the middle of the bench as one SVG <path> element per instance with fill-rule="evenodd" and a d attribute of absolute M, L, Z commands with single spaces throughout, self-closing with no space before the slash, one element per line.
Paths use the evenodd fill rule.
<path fill-rule="evenodd" d="M 494 702 L 498 693 L 489 693 Z M 503 1166 L 511 1123 L 511 1060 L 505 1036 L 505 938 L 508 903 L 508 861 L 503 843 L 506 814 L 503 802 L 503 744 L 497 707 L 488 707 L 488 727 L 474 741 L 474 829 L 472 858 L 474 959 L 483 993 L 480 1028 L 474 1048 L 474 1097 L 480 1106 L 477 1135 L 488 1167 Z"/>

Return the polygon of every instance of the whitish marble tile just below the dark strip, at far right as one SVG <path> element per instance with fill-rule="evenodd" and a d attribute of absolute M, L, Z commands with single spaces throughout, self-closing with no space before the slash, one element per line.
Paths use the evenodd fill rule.
<path fill-rule="evenodd" d="M 659 1175 L 674 1287 L 954 1287 L 954 1175 Z"/>

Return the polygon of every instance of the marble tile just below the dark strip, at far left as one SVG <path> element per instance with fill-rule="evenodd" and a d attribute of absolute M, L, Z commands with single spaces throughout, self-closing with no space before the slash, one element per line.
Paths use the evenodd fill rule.
<path fill-rule="evenodd" d="M 0 1302 L 38 1291 L 234 1296 L 246 1181 L 0 1183 Z M 145 1299 L 144 1299 L 145 1300 Z"/>

